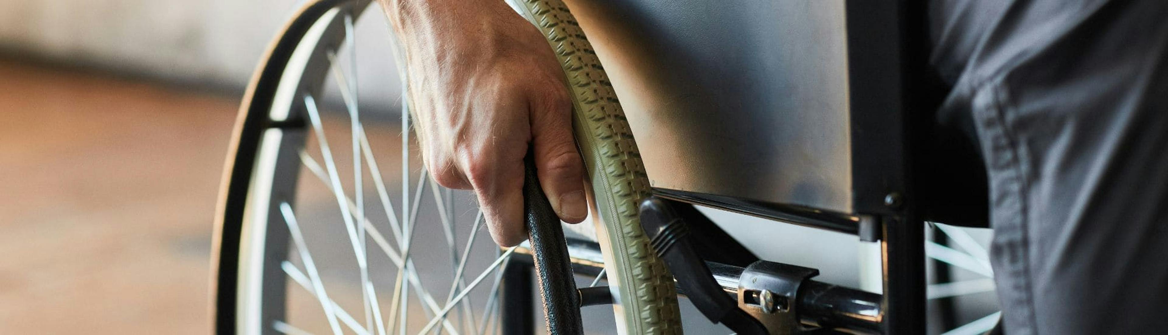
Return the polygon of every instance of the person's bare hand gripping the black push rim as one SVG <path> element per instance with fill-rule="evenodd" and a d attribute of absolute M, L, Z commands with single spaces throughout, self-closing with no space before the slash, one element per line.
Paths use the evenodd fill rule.
<path fill-rule="evenodd" d="M 527 238 L 523 158 L 559 218 L 588 215 L 563 72 L 543 35 L 499 0 L 382 0 L 402 41 L 423 161 L 474 189 L 495 243 Z"/>

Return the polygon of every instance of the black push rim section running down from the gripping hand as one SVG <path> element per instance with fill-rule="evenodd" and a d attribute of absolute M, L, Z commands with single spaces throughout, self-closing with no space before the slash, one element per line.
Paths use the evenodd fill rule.
<path fill-rule="evenodd" d="M 540 296 L 543 300 L 543 320 L 548 324 L 548 334 L 584 334 L 579 293 L 576 291 L 576 278 L 571 260 L 568 258 L 564 229 L 559 225 L 559 216 L 551 209 L 551 203 L 540 187 L 533 156 L 528 153 L 523 160 L 526 165 L 523 217 L 527 219 L 531 260 L 535 264 Z"/>

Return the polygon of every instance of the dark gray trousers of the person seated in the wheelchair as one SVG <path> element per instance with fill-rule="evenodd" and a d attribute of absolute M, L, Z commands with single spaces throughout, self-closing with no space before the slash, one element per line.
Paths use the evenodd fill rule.
<path fill-rule="evenodd" d="M 1168 334 L 1168 1 L 930 0 L 1007 334 Z"/>

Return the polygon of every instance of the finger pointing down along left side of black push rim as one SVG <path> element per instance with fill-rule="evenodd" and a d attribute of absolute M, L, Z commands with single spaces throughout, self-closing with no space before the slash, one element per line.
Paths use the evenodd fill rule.
<path fill-rule="evenodd" d="M 500 246 L 514 246 L 527 239 L 522 158 L 471 163 L 467 179 L 479 197 L 491 238 Z"/>

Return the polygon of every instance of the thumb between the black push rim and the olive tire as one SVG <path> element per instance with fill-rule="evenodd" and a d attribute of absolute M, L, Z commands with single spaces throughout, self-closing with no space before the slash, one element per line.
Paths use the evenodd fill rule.
<path fill-rule="evenodd" d="M 588 216 L 584 162 L 572 138 L 571 100 L 559 85 L 531 104 L 536 174 L 559 219 L 578 223 Z"/>

